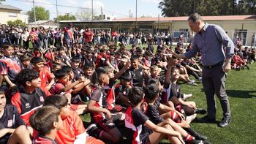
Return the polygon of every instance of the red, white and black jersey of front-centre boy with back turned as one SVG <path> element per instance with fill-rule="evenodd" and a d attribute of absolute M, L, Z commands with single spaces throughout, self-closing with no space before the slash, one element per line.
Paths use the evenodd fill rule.
<path fill-rule="evenodd" d="M 125 113 L 125 127 L 127 128 L 127 140 L 132 144 L 147 143 L 146 137 L 148 137 L 149 129 L 144 126 L 148 117 L 136 107 L 129 107 Z"/>

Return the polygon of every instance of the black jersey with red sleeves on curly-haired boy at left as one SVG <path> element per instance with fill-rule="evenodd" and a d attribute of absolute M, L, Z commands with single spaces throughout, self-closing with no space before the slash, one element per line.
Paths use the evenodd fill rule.
<path fill-rule="evenodd" d="M 17 107 L 23 121 L 29 124 L 30 115 L 34 113 L 34 110 L 42 107 L 48 94 L 48 91 L 43 91 L 41 88 L 35 88 L 33 94 L 26 94 L 21 90 L 12 96 L 12 105 Z"/>

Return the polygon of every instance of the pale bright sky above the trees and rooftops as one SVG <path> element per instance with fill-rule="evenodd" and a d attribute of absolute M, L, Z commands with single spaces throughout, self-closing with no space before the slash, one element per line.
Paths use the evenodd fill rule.
<path fill-rule="evenodd" d="M 75 15 L 81 9 L 91 12 L 91 0 L 34 0 L 35 6 L 45 7 L 50 11 L 50 19 L 56 18 L 56 1 L 58 1 L 59 15 L 71 13 Z M 138 0 L 138 18 L 141 16 L 158 17 L 161 10 L 158 4 L 161 0 Z M 2 4 L 9 4 L 18 7 L 23 12 L 31 10 L 33 0 L 6 0 Z M 105 15 L 113 15 L 115 18 L 128 18 L 129 11 L 135 18 L 136 0 L 93 0 L 94 14 L 99 15 L 102 12 Z"/>

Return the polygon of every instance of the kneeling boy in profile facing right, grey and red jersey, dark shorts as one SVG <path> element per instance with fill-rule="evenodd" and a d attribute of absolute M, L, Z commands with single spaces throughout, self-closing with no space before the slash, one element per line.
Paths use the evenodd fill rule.
<path fill-rule="evenodd" d="M 105 92 L 105 86 L 110 83 L 108 69 L 99 67 L 95 70 L 92 80 L 94 88 L 92 88 L 91 99 L 88 103 L 88 110 L 91 112 L 91 121 L 97 124 L 97 131 L 94 131 L 95 137 L 102 140 L 108 140 L 111 143 L 121 141 L 121 132 L 116 128 L 113 121 L 124 120 L 122 114 L 113 114 L 108 110 L 108 95 Z"/>

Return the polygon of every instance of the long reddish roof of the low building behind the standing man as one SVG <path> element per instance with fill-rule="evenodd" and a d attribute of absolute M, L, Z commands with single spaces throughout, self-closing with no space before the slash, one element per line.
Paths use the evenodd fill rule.
<path fill-rule="evenodd" d="M 186 21 L 189 17 L 137 18 L 137 21 Z M 256 20 L 256 15 L 217 15 L 202 16 L 203 20 Z M 135 21 L 135 18 L 118 18 L 113 21 Z"/>

